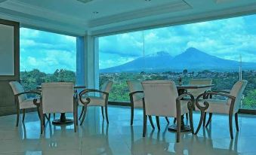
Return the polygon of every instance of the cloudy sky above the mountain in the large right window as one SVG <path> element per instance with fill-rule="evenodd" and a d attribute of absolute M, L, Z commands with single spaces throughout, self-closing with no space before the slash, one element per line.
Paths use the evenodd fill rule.
<path fill-rule="evenodd" d="M 256 62 L 256 15 L 106 36 L 99 39 L 100 68 L 165 51 L 195 47 L 222 59 Z"/>

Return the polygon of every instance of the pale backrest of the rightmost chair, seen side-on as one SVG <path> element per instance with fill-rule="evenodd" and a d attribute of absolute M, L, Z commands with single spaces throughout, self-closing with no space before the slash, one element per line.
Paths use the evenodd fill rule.
<path fill-rule="evenodd" d="M 235 113 L 239 110 L 242 93 L 245 90 L 247 83 L 248 83 L 248 81 L 245 81 L 245 80 L 237 81 L 236 84 L 233 85 L 232 90 L 230 90 L 230 96 L 236 97 L 236 101 L 235 101 L 234 109 L 233 109 L 233 111 Z M 229 105 L 231 104 L 231 99 L 228 100 L 227 104 L 229 104 Z"/>

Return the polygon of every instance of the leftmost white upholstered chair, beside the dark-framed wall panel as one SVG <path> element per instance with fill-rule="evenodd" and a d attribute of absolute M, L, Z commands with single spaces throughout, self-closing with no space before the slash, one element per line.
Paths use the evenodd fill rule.
<path fill-rule="evenodd" d="M 18 126 L 19 124 L 19 118 L 20 118 L 20 110 L 23 111 L 23 119 L 22 121 L 24 121 L 25 119 L 25 113 L 26 113 L 26 109 L 28 108 L 36 108 L 36 106 L 33 104 L 33 99 L 35 98 L 28 98 L 26 95 L 27 94 L 36 94 L 36 95 L 41 95 L 41 93 L 39 91 L 36 90 L 30 90 L 30 91 L 24 91 L 23 87 L 21 86 L 21 84 L 17 81 L 11 81 L 9 82 L 12 91 L 14 92 L 14 98 L 15 98 L 15 104 L 17 107 L 17 122 L 16 122 L 16 126 Z M 39 112 L 39 109 L 38 109 Z"/>

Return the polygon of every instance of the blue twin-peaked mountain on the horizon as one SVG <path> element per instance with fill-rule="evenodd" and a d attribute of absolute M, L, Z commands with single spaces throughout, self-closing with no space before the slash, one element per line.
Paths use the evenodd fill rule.
<path fill-rule="evenodd" d="M 144 60 L 144 61 L 143 61 Z M 256 68 L 255 62 L 242 62 L 243 68 Z M 182 71 L 189 70 L 238 70 L 239 62 L 211 56 L 196 48 L 190 47 L 177 56 L 161 51 L 153 55 L 140 57 L 123 65 L 101 69 L 100 72 L 122 71 Z"/>

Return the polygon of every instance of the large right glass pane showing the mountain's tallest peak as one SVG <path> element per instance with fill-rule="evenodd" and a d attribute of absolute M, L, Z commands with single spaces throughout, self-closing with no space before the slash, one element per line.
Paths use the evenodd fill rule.
<path fill-rule="evenodd" d="M 231 90 L 242 67 L 242 79 L 248 81 L 242 108 L 256 108 L 254 21 L 256 15 L 147 30 L 144 76 L 176 82 L 182 77 L 183 84 L 211 78 L 212 90 Z"/>

